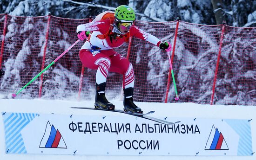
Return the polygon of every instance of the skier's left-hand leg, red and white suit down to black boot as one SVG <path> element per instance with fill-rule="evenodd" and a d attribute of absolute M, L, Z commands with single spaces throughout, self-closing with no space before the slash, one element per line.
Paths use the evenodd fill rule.
<path fill-rule="evenodd" d="M 108 102 L 105 96 L 105 88 L 111 59 L 98 50 L 81 50 L 80 59 L 85 67 L 97 70 L 95 80 L 95 108 L 115 109 L 115 106 Z"/>

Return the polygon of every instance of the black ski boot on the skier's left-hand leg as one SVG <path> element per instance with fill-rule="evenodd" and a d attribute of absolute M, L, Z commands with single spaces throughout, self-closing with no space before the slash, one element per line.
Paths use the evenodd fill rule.
<path fill-rule="evenodd" d="M 101 83 L 101 84 L 96 83 L 94 107 L 95 107 L 95 109 L 101 108 L 101 109 L 114 110 L 115 105 L 108 102 L 108 100 L 105 96 L 105 87 L 106 87 L 106 83 Z"/>

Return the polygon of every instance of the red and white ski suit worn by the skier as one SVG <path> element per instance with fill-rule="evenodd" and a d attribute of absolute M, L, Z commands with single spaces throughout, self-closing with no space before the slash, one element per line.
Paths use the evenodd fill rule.
<path fill-rule="evenodd" d="M 93 31 L 90 38 L 87 38 L 85 44 L 81 47 L 79 53 L 81 62 L 85 67 L 97 70 L 97 84 L 106 82 L 108 71 L 111 71 L 123 75 L 123 88 L 133 88 L 135 76 L 132 64 L 113 49 L 123 45 L 126 37 L 121 34 L 115 39 L 112 38 L 112 41 L 109 36 L 105 39 L 97 38 L 97 35 L 104 35 L 109 31 L 110 25 L 113 25 L 110 23 L 109 19 L 105 19 L 77 26 L 76 32 Z M 158 38 L 144 32 L 137 26 L 133 25 L 129 32 L 130 37 L 134 36 L 157 46 L 161 43 Z"/>

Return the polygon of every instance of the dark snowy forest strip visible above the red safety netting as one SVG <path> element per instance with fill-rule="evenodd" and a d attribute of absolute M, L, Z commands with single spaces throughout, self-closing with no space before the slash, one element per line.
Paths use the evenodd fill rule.
<path fill-rule="evenodd" d="M 82 19 L 119 5 L 131 6 L 138 20 L 256 26 L 256 0 L 0 0 L 0 13 Z"/>

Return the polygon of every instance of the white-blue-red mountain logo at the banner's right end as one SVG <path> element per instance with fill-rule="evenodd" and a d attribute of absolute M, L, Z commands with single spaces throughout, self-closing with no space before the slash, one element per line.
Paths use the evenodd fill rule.
<path fill-rule="evenodd" d="M 212 125 L 211 133 L 204 148 L 205 150 L 228 150 L 229 147 L 218 128 Z"/>

